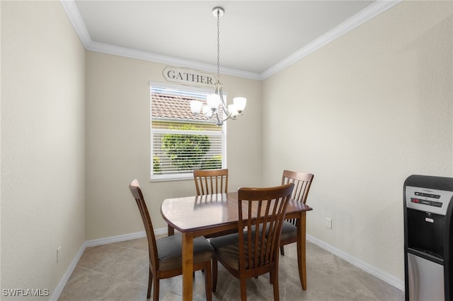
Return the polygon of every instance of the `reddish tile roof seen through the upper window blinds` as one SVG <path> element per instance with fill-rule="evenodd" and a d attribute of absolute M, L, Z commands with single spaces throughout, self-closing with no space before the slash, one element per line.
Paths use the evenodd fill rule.
<path fill-rule="evenodd" d="M 151 94 L 151 116 L 161 119 L 183 119 L 188 121 L 207 121 L 204 114 L 194 116 L 190 111 L 190 100 L 197 98 L 185 98 L 176 95 L 161 93 Z M 205 100 L 202 100 L 205 102 Z"/>

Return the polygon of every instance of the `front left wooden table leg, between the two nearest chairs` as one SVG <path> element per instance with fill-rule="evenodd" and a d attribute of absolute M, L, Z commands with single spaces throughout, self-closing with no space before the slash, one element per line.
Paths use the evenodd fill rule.
<path fill-rule="evenodd" d="M 193 293 L 193 233 L 182 232 L 183 237 L 183 301 L 192 301 Z"/>

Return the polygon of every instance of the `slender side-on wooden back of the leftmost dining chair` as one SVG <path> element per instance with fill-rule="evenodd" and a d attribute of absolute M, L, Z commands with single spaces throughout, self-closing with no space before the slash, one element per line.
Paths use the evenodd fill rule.
<path fill-rule="evenodd" d="M 149 217 L 147 203 L 144 201 L 142 189 L 140 189 L 140 184 L 137 179 L 134 179 L 130 183 L 129 189 L 139 207 L 140 216 L 142 216 L 144 230 L 147 232 L 150 269 L 152 269 L 154 275 L 156 275 L 156 271 L 159 270 L 159 257 L 157 256 L 156 236 L 154 235 L 153 224 Z"/>

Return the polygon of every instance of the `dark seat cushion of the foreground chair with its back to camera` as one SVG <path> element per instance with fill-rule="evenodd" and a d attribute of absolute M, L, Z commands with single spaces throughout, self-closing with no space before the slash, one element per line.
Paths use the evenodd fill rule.
<path fill-rule="evenodd" d="M 246 232 L 244 232 L 244 237 Z M 215 254 L 218 259 L 224 261 L 225 264 L 231 266 L 235 270 L 239 271 L 239 234 L 234 233 L 230 235 L 224 235 L 222 237 L 215 237 L 210 240 L 212 246 L 215 249 Z M 248 266 L 247 250 L 248 244 L 244 244 L 246 254 L 246 269 Z M 252 251 L 253 252 L 253 251 Z"/>

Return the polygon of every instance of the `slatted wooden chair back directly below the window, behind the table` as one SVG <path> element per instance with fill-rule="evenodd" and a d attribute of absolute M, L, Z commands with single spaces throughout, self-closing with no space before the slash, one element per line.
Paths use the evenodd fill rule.
<path fill-rule="evenodd" d="M 205 194 L 224 194 L 228 191 L 228 169 L 194 170 L 193 179 L 197 196 Z"/>

